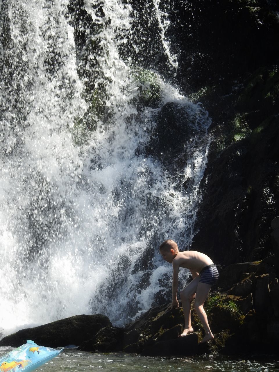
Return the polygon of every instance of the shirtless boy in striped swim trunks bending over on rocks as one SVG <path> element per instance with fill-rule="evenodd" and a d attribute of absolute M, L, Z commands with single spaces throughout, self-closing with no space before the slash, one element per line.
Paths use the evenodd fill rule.
<path fill-rule="evenodd" d="M 185 328 L 179 337 L 186 336 L 194 331 L 191 324 L 190 311 L 191 302 L 196 294 L 194 308 L 205 330 L 205 337 L 203 337 L 201 343 L 214 339 L 214 335 L 208 324 L 206 312 L 203 309 L 203 304 L 209 294 L 211 286 L 218 279 L 218 270 L 216 266 L 206 254 L 201 252 L 179 252 L 175 241 L 170 239 L 161 244 L 160 253 L 164 260 L 173 264 L 172 302 L 170 308 L 179 307 L 179 302 L 177 301 L 179 267 L 189 269 L 193 276 L 193 280 L 180 292 L 185 318 Z"/>

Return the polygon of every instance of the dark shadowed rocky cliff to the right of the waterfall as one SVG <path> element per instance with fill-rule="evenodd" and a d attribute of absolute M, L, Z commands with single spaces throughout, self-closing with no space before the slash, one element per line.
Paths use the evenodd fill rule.
<path fill-rule="evenodd" d="M 160 41 L 153 3 L 131 4 L 135 17 L 130 39 L 120 48 L 124 60 L 132 58 L 143 68 L 160 71 L 212 117 L 192 248 L 222 265 L 272 254 L 270 222 L 279 211 L 278 3 L 161 1 L 161 11 L 170 20 L 165 36 L 178 59 L 175 77 Z M 102 17 L 102 6 L 98 16 Z M 90 81 L 94 83 L 97 73 L 93 57 L 99 47 L 90 35 L 99 26 L 82 0 L 70 1 L 69 17 L 75 28 L 78 70 L 87 77 L 92 93 Z M 135 49 L 142 36 L 145 43 Z M 100 99 L 102 93 L 98 94 Z M 101 106 L 97 113 L 104 115 Z M 180 129 L 170 129 L 172 141 L 179 143 Z"/>

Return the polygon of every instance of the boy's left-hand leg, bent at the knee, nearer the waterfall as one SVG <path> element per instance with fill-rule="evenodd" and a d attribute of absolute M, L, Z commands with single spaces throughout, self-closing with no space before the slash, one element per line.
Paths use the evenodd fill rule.
<path fill-rule="evenodd" d="M 182 301 L 183 313 L 184 313 L 184 320 L 185 326 L 182 334 L 179 337 L 186 336 L 189 333 L 192 333 L 193 327 L 191 324 L 191 302 L 193 299 L 193 295 L 196 293 L 196 289 L 199 283 L 199 276 L 193 279 L 181 292 L 180 298 Z"/>

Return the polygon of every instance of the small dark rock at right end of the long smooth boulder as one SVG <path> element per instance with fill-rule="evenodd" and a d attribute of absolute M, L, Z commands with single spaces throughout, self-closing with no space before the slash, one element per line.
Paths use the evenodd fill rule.
<path fill-rule="evenodd" d="M 92 339 L 84 341 L 78 349 L 89 353 L 116 352 L 123 350 L 124 328 L 108 325 L 99 330 Z"/>

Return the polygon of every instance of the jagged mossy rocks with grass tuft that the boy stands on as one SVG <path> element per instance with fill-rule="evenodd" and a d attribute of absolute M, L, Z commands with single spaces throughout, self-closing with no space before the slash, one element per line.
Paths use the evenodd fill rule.
<path fill-rule="evenodd" d="M 273 276 L 273 264 L 270 256 L 224 268 L 221 283 L 230 289 L 222 293 L 211 292 L 205 302 L 215 336 L 206 345 L 198 344 L 203 329 L 193 307 L 191 318 L 195 334 L 180 338 L 177 336 L 183 328 L 183 310 L 167 310 L 169 304 L 165 304 L 150 309 L 127 325 L 125 342 L 130 344 L 125 344 L 124 350 L 150 356 L 187 356 L 213 351 L 228 355 L 275 352 L 273 345 L 279 342 L 279 283 Z M 256 275 L 264 271 L 267 272 Z"/>

